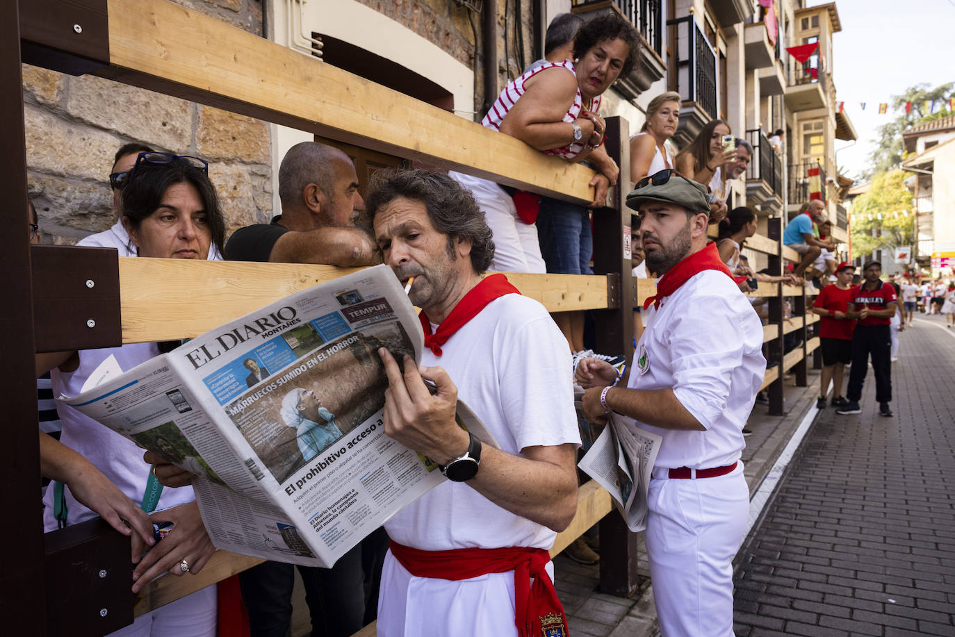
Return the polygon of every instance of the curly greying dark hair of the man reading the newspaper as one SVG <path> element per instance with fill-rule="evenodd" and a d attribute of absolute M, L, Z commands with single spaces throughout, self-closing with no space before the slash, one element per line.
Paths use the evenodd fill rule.
<path fill-rule="evenodd" d="M 371 177 L 365 215 L 374 223 L 378 211 L 404 197 L 424 204 L 435 230 L 448 235 L 449 252 L 454 254 L 457 238 L 471 240 L 471 265 L 478 274 L 494 260 L 494 240 L 484 213 L 474 196 L 444 173 L 421 169 L 382 168 Z"/>

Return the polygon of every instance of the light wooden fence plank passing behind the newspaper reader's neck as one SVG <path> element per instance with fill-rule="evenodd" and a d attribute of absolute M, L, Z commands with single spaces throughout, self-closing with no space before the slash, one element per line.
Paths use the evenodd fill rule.
<path fill-rule="evenodd" d="M 293 292 L 360 268 L 119 258 L 124 343 L 194 338 Z M 548 311 L 605 308 L 606 277 L 508 274 Z"/>

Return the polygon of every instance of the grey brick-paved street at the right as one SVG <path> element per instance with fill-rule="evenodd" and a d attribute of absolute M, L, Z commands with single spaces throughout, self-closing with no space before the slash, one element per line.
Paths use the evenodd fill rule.
<path fill-rule="evenodd" d="M 862 414 L 822 412 L 744 545 L 737 635 L 955 635 L 955 330 L 901 339 L 895 417 L 871 373 Z"/>

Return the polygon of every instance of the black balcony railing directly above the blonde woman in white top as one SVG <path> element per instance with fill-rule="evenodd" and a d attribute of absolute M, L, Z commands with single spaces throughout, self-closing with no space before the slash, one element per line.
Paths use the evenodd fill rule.
<path fill-rule="evenodd" d="M 692 15 L 668 20 L 676 27 L 676 92 L 716 117 L 716 53 Z"/>

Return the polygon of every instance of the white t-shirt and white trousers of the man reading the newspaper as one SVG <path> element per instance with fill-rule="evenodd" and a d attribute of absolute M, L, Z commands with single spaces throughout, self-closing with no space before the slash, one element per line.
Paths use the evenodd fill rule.
<path fill-rule="evenodd" d="M 502 451 L 520 455 L 531 446 L 580 444 L 570 353 L 541 304 L 520 294 L 499 296 L 439 350 L 440 356 L 426 348 L 421 364 L 440 365 L 448 372 L 458 397 L 477 414 Z M 468 484 L 450 480 L 402 509 L 385 528 L 392 541 L 425 551 L 548 549 L 557 536 L 505 511 Z M 547 570 L 553 577 L 550 564 Z M 381 576 L 377 630 L 382 637 L 416 637 L 423 632 L 517 635 L 514 571 L 456 581 L 416 577 L 389 551 Z"/>

